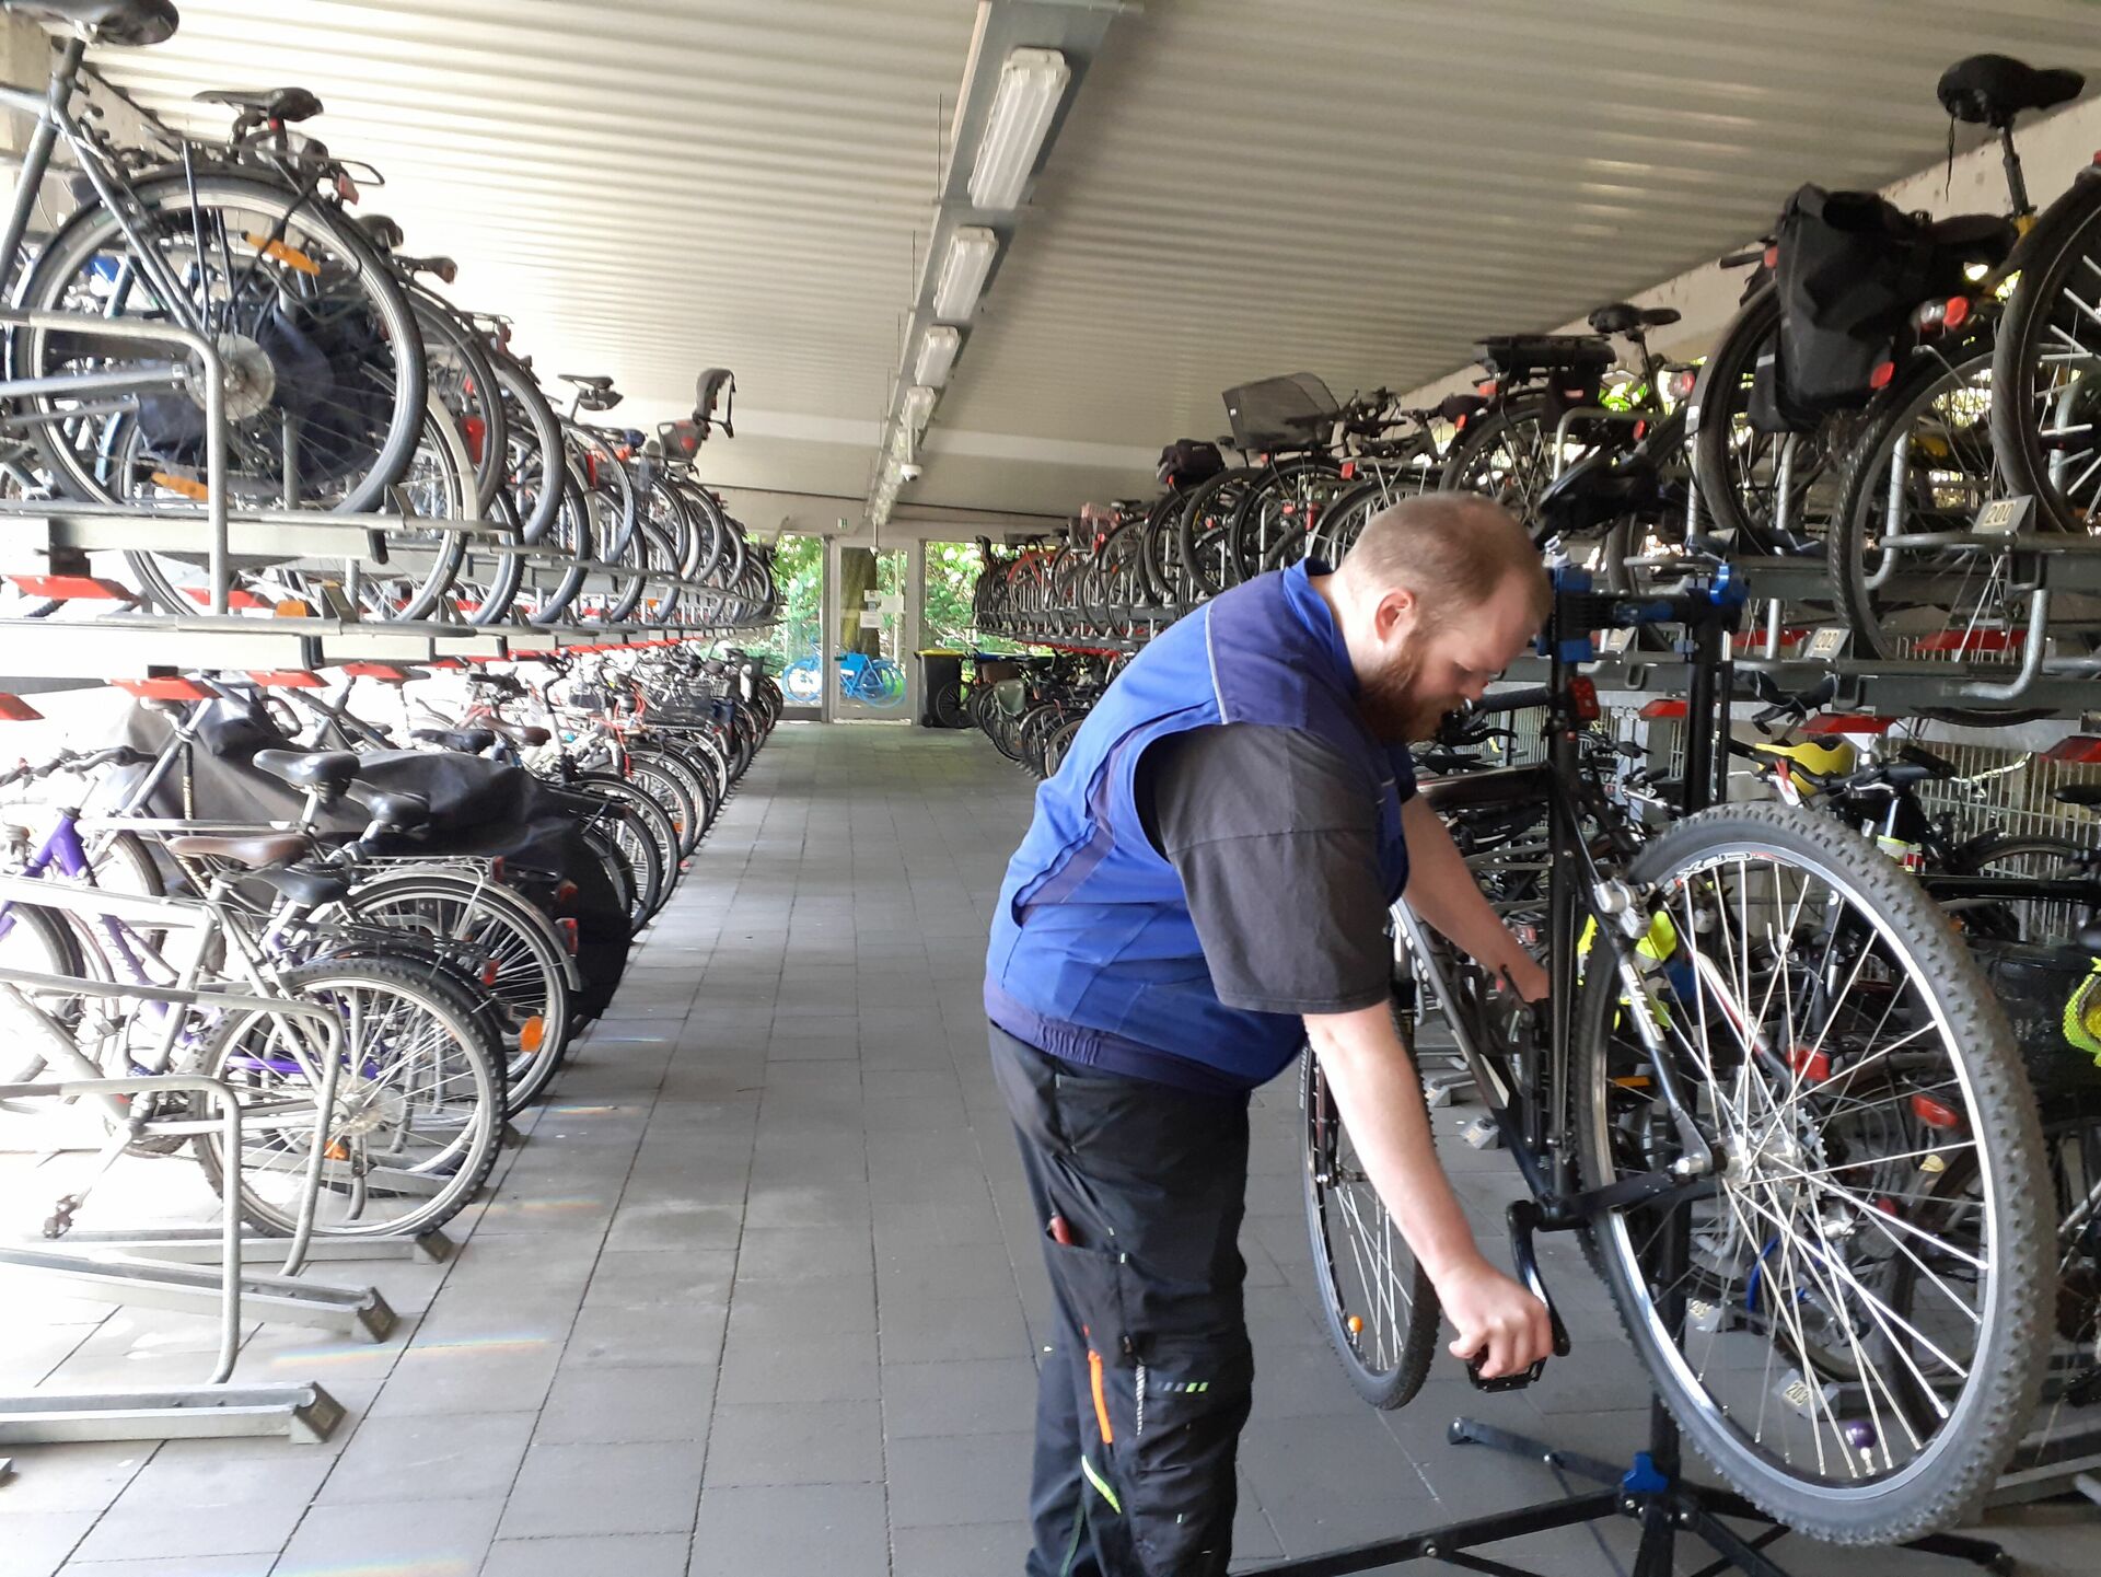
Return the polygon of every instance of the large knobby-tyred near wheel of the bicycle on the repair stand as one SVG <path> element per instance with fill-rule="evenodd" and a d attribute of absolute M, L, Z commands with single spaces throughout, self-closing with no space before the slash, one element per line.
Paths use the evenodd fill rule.
<path fill-rule="evenodd" d="M 1775 1520 L 1834 1543 L 1948 1527 L 1996 1483 L 2046 1359 L 2051 1193 L 2006 1014 L 1920 886 L 1828 819 L 1706 811 L 1628 880 L 1672 951 L 1586 968 L 1582 1176 L 1687 1157 L 1656 1058 L 1712 1149 L 1706 1184 L 1593 1220 L 1635 1350 Z M 1964 1157 L 1977 1184 L 1952 1193 Z"/>

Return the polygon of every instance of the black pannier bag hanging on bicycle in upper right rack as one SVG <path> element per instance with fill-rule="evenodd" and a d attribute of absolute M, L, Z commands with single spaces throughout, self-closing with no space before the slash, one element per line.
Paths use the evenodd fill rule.
<path fill-rule="evenodd" d="M 1864 405 L 1927 292 L 1925 220 L 1872 191 L 1803 187 L 1780 212 L 1780 365 L 1798 409 Z"/>

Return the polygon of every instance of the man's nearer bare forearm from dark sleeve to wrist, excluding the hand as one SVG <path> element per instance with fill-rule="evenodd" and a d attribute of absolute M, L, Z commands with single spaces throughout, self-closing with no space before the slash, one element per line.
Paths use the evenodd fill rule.
<path fill-rule="evenodd" d="M 1414 1058 L 1387 1004 L 1309 1014 L 1307 1039 L 1357 1147 L 1357 1159 L 1431 1281 L 1481 1260 L 1437 1149 Z"/>

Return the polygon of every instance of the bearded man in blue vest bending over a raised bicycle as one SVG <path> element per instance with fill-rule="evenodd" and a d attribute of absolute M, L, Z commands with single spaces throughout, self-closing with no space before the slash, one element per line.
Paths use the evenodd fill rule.
<path fill-rule="evenodd" d="M 1000 888 L 992 1058 L 1057 1302 L 1029 1577 L 1208 1577 L 1233 1531 L 1254 1361 L 1237 1233 L 1248 1092 L 1305 1042 L 1483 1375 L 1546 1357 L 1544 1306 L 1481 1254 L 1389 1010 L 1387 911 L 1527 1000 L 1546 974 L 1414 798 L 1408 741 L 1540 628 L 1538 550 L 1427 496 L 1160 634 L 1074 737 Z"/>

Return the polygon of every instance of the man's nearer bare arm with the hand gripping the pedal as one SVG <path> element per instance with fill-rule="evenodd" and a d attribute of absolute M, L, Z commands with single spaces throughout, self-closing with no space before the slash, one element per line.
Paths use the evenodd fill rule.
<path fill-rule="evenodd" d="M 1393 1010 L 1380 1002 L 1357 1012 L 1307 1014 L 1305 1025 L 1357 1159 L 1437 1287 L 1456 1331 L 1452 1357 L 1481 1354 L 1481 1375 L 1490 1380 L 1544 1359 L 1553 1350 L 1546 1304 L 1492 1266 L 1473 1241 L 1437 1163 L 1422 1084 L 1393 1029 Z"/>

